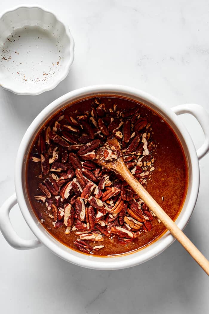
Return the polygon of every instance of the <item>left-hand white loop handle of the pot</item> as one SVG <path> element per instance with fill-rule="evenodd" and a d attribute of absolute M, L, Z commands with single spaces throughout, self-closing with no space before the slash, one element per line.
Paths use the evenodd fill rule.
<path fill-rule="evenodd" d="M 6 239 L 6 241 L 18 250 L 34 249 L 41 245 L 41 242 L 37 240 L 24 240 L 21 239 L 14 231 L 11 221 L 9 219 L 9 212 L 13 206 L 17 204 L 16 194 L 10 196 L 0 208 L 0 230 Z"/>

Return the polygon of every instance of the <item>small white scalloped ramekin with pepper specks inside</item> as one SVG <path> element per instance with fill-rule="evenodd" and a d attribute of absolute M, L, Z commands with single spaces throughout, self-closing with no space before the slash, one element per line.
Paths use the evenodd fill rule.
<path fill-rule="evenodd" d="M 69 73 L 74 40 L 69 27 L 38 6 L 18 6 L 0 17 L 0 86 L 38 95 Z"/>

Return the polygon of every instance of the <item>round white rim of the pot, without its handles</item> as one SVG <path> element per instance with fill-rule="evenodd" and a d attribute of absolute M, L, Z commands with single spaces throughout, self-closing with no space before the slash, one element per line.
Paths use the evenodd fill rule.
<path fill-rule="evenodd" d="M 183 123 L 180 121 L 180 119 L 177 118 L 176 114 L 170 108 L 167 108 L 161 101 L 159 101 L 158 99 L 144 91 L 128 86 L 113 84 L 87 86 L 80 89 L 76 89 L 59 97 L 58 99 L 54 100 L 51 104 L 49 104 L 47 107 L 45 107 L 39 113 L 38 116 L 36 116 L 36 118 L 33 120 L 33 122 L 28 127 L 27 131 L 25 132 L 24 137 L 20 143 L 15 164 L 15 191 L 21 213 L 23 214 L 23 217 L 26 223 L 28 224 L 29 228 L 32 230 L 34 235 L 39 239 L 39 241 L 42 242 L 44 246 L 48 247 L 50 251 L 55 253 L 57 256 L 61 257 L 62 259 L 68 262 L 74 263 L 82 267 L 110 270 L 128 268 L 138 265 L 140 263 L 144 263 L 149 259 L 157 256 L 161 252 L 163 252 L 168 246 L 170 246 L 175 241 L 175 238 L 170 234 L 169 231 L 167 231 L 163 236 L 161 236 L 157 241 L 154 241 L 151 245 L 146 246 L 144 249 L 140 251 L 136 251 L 128 255 L 117 257 L 97 257 L 91 255 L 86 256 L 85 254 L 76 252 L 71 248 L 62 245 L 58 240 L 51 236 L 43 226 L 39 226 L 37 218 L 36 218 L 37 222 L 34 221 L 32 215 L 29 212 L 28 205 L 24 197 L 24 184 L 23 184 L 25 152 L 28 149 L 28 145 L 31 141 L 31 138 L 34 136 L 34 133 L 36 132 L 39 125 L 43 122 L 43 120 L 46 120 L 46 118 L 49 115 L 59 110 L 62 106 L 67 104 L 67 102 L 71 102 L 73 98 L 77 96 L 79 96 L 79 98 L 84 98 L 85 95 L 86 96 L 91 94 L 99 95 L 102 93 L 109 93 L 115 95 L 128 94 L 129 96 L 127 97 L 130 98 L 138 97 L 143 99 L 144 101 L 152 103 L 156 107 L 155 111 L 157 111 L 158 109 L 159 111 L 165 113 L 165 116 L 167 116 L 167 118 L 169 118 L 170 121 L 173 122 L 175 127 L 179 130 L 186 144 L 186 148 L 184 149 L 187 149 L 188 155 L 191 159 L 190 165 L 191 174 L 192 177 L 195 178 L 195 180 L 189 180 L 190 195 L 188 198 L 188 203 L 185 208 L 185 211 L 181 215 L 184 208 L 183 206 L 178 218 L 176 219 L 176 224 L 181 230 L 183 230 L 187 225 L 191 217 L 191 214 L 194 210 L 199 191 L 200 173 L 199 162 L 194 143 L 188 131 L 184 127 Z"/>

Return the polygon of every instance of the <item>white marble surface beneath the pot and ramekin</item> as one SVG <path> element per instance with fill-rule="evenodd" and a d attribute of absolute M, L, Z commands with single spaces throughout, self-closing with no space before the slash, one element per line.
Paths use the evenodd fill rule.
<path fill-rule="evenodd" d="M 27 1 L 27 3 L 32 3 Z M 73 89 L 116 83 L 143 89 L 168 107 L 195 102 L 209 111 L 209 3 L 188 1 L 37 1 L 69 24 L 75 60 L 68 77 L 39 96 L 0 89 L 0 204 L 14 192 L 19 143 L 34 117 Z M 0 3 L 0 11 L 18 5 Z M 196 146 L 203 141 L 191 116 L 181 119 Z M 198 201 L 185 233 L 209 257 L 208 164 L 200 162 Z M 16 205 L 18 234 L 34 237 Z M 1 313 L 208 313 L 209 282 L 177 241 L 151 261 L 118 271 L 71 265 L 46 248 L 17 251 L 0 234 Z"/>

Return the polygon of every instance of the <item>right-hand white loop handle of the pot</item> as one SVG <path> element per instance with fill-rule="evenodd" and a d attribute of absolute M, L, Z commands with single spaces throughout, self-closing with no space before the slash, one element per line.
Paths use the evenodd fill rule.
<path fill-rule="evenodd" d="M 200 123 L 205 135 L 205 140 L 202 146 L 197 150 L 197 157 L 200 160 L 209 151 L 209 113 L 200 105 L 185 104 L 171 108 L 175 114 L 181 115 L 183 113 L 190 113 Z"/>

